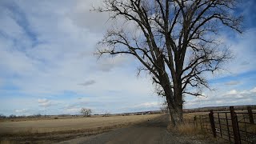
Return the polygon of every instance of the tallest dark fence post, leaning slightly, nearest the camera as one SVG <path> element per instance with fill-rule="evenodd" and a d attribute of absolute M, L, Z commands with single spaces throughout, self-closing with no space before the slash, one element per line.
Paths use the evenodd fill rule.
<path fill-rule="evenodd" d="M 230 106 L 230 116 L 231 116 L 232 128 L 234 133 L 234 143 L 240 144 L 241 141 L 240 141 L 239 129 L 238 129 L 238 118 L 234 112 L 234 106 Z"/>

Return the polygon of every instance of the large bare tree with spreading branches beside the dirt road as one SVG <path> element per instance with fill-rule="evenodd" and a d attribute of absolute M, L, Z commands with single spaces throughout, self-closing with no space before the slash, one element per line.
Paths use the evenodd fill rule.
<path fill-rule="evenodd" d="M 166 97 L 174 126 L 183 123 L 183 96 L 209 88 L 206 72 L 230 58 L 218 34 L 225 27 L 242 32 L 235 0 L 104 0 L 94 8 L 123 22 L 98 42 L 102 54 L 130 54 L 151 74 L 158 94 Z M 136 28 L 132 31 L 130 26 Z"/>

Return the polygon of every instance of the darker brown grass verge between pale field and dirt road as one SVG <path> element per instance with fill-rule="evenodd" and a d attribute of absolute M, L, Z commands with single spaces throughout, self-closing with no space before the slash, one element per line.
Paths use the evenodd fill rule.
<path fill-rule="evenodd" d="M 133 124 L 134 123 L 126 123 L 113 126 L 99 126 L 93 129 L 65 130 L 48 133 L 38 133 L 29 128 L 18 134 L 0 134 L 0 143 L 56 143 L 82 136 L 102 134 L 110 130 Z"/>

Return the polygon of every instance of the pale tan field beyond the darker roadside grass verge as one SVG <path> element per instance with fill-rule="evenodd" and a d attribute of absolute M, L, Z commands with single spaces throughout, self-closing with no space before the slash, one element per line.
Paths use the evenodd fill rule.
<path fill-rule="evenodd" d="M 105 127 L 125 126 L 156 118 L 159 114 L 62 118 L 50 120 L 0 122 L 0 134 L 40 134 L 50 132 L 65 132 L 74 130 L 94 130 Z"/>

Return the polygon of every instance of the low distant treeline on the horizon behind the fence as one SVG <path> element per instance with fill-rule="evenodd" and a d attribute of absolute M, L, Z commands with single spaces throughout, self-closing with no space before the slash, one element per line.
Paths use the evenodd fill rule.
<path fill-rule="evenodd" d="M 256 110 L 256 105 L 245 105 L 245 106 L 234 106 L 234 110 L 247 110 L 247 106 L 251 106 L 252 110 Z M 230 106 L 211 106 L 211 107 L 199 107 L 194 109 L 184 109 L 184 113 L 195 113 L 195 112 L 208 112 L 214 111 L 229 111 Z"/>

